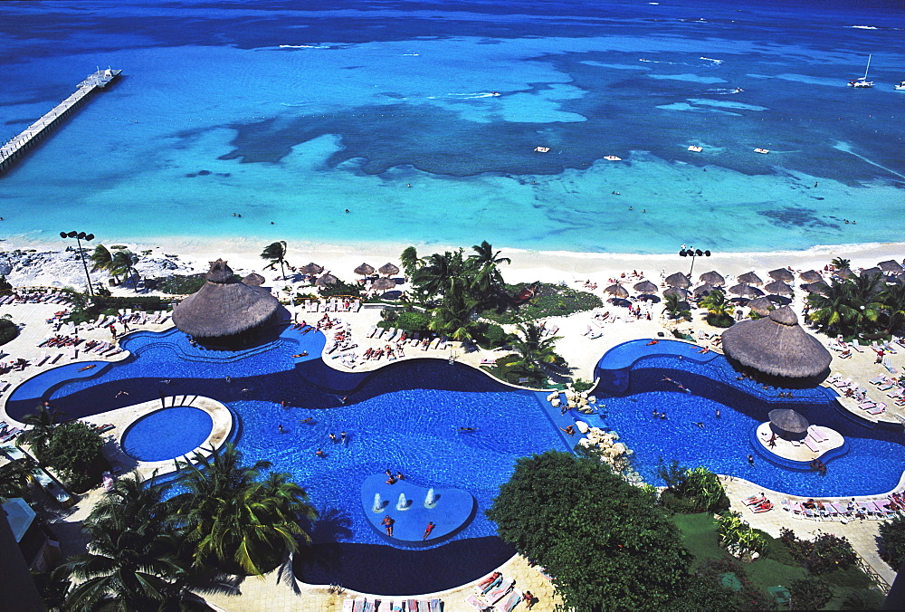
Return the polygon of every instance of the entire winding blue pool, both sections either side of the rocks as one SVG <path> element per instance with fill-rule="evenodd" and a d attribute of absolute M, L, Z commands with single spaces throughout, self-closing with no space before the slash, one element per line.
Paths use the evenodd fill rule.
<path fill-rule="evenodd" d="M 165 396 L 223 402 L 234 416 L 230 437 L 245 460 L 266 459 L 272 469 L 291 473 L 320 512 L 311 527 L 315 546 L 298 556 L 296 576 L 376 595 L 452 588 L 508 559 L 513 551 L 496 537 L 484 511 L 519 457 L 570 450 L 577 437 L 559 427 L 576 419 L 618 432 L 634 451 L 633 468 L 650 483 L 659 484 L 658 463 L 672 459 L 806 496 L 888 492 L 905 470 L 901 433 L 847 416 L 833 391 L 795 389 L 794 398 L 780 399 L 776 389 L 738 380 L 723 357 L 700 355 L 686 343 L 635 340 L 608 351 L 595 371 L 601 414 L 585 416 L 560 415 L 546 393 L 510 387 L 443 359 L 339 372 L 319 358 L 324 342 L 320 332 L 287 327 L 253 349 L 212 351 L 193 347 L 175 329 L 137 332 L 122 341 L 129 358 L 90 370 L 74 364 L 45 371 L 14 390 L 7 411 L 21 417 L 43 399 L 70 417 Z M 308 357 L 294 357 L 303 352 Z M 794 407 L 845 436 L 844 453 L 826 460 L 825 475 L 760 454 L 752 433 L 776 407 Z M 668 418 L 654 419 L 653 410 Z M 303 423 L 308 417 L 313 421 Z M 153 446 L 154 431 L 143 444 Z M 348 443 L 332 443 L 329 434 L 342 431 Z M 318 448 L 326 457 L 315 455 Z M 423 490 L 470 493 L 473 515 L 461 530 L 425 546 L 387 538 L 368 521 L 362 502 L 362 484 L 387 469 Z M 395 500 L 389 503 L 392 508 Z"/>

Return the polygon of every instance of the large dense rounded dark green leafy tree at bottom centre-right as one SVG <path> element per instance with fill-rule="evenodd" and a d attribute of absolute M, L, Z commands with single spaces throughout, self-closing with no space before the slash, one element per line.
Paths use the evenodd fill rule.
<path fill-rule="evenodd" d="M 690 584 L 691 555 L 645 490 L 589 456 L 522 457 L 487 516 L 577 611 L 659 609 Z"/>

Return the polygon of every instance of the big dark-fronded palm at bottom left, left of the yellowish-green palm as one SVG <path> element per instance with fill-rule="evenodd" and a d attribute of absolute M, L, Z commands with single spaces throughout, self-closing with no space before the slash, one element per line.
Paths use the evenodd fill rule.
<path fill-rule="evenodd" d="M 56 570 L 79 582 L 66 609 L 212 609 L 187 588 L 190 568 L 176 555 L 180 539 L 161 502 L 165 491 L 138 475 L 114 483 L 82 523 L 91 538 L 88 552 Z"/>

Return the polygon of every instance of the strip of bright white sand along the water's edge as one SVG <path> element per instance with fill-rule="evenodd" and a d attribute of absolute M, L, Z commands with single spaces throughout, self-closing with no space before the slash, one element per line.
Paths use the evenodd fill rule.
<path fill-rule="evenodd" d="M 477 240 L 475 242 L 478 242 Z M 270 244 L 264 240 L 250 238 L 195 238 L 185 236 L 168 236 L 148 238 L 141 242 L 132 241 L 100 241 L 83 244 L 93 249 L 97 244 L 110 248 L 113 244 L 125 244 L 133 253 L 138 253 L 142 260 L 160 259 L 166 254 L 178 255 L 176 262 L 179 270 L 170 273 L 204 273 L 208 263 L 220 257 L 230 263 L 237 273 L 262 272 L 268 265 L 260 256 L 263 248 Z M 370 263 L 375 268 L 384 263 L 398 264 L 399 255 L 409 244 L 349 243 L 328 244 L 302 242 L 288 244 L 287 261 L 294 266 L 309 262 L 324 266 L 325 272 L 337 275 L 341 280 L 349 282 L 356 278 L 352 272 L 360 263 Z M 23 237 L 10 238 L 4 241 L 6 253 L 14 250 L 34 249 L 38 252 L 65 253 L 67 246 L 74 247 L 71 241 L 28 240 Z M 461 245 L 466 254 L 471 252 L 471 244 Z M 460 245 L 446 246 L 442 244 L 414 244 L 421 256 L 431 253 L 457 249 Z M 530 251 L 512 247 L 500 247 L 500 256 L 510 257 L 512 263 L 500 267 L 507 282 L 576 282 L 590 280 L 598 285 L 608 283 L 621 273 L 632 273 L 633 270 L 643 272 L 648 278 L 656 278 L 665 272 L 687 273 L 692 262 L 690 258 L 680 257 L 679 246 L 675 253 L 577 253 L 570 251 Z M 150 250 L 147 257 L 141 251 Z M 747 252 L 747 253 L 712 253 L 710 257 L 695 258 L 695 273 L 716 270 L 723 275 L 738 275 L 751 270 L 767 272 L 780 267 L 791 266 L 795 270 L 822 270 L 834 257 L 844 257 L 852 261 L 853 270 L 868 268 L 877 263 L 895 259 L 901 261 L 905 256 L 905 243 L 865 243 L 865 244 L 832 244 L 817 245 L 803 251 Z M 700 260 L 700 261 L 699 261 Z M 62 262 L 61 262 L 62 263 Z M 138 263 L 140 269 L 141 263 Z M 11 273 L 10 282 L 15 286 L 34 284 L 81 284 L 83 269 L 77 266 L 44 266 L 46 270 L 35 270 L 37 278 L 47 276 L 53 282 L 17 283 L 16 274 Z M 69 269 L 71 268 L 71 270 Z M 64 272 L 65 270 L 65 272 Z M 105 273 L 96 273 L 102 278 Z M 60 278 L 55 278 L 59 275 Z M 144 275 L 144 274 L 143 274 Z M 266 276 L 266 274 L 265 274 Z M 93 278 L 93 277 L 92 277 Z M 696 277 L 695 277 L 696 278 Z M 694 281 L 694 279 L 692 279 Z M 62 284 L 61 284 L 62 283 Z"/>

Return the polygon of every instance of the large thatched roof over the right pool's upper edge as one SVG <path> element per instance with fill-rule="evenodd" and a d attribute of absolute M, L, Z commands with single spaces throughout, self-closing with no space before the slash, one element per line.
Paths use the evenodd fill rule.
<path fill-rule="evenodd" d="M 763 319 L 736 323 L 723 331 L 729 359 L 772 376 L 809 378 L 823 373 L 833 357 L 819 340 L 798 324 L 795 311 L 784 306 Z"/>

